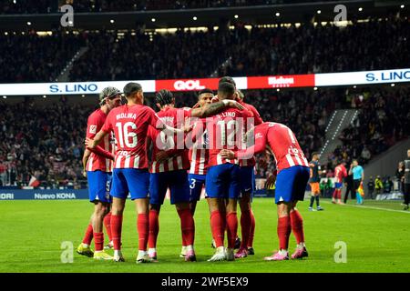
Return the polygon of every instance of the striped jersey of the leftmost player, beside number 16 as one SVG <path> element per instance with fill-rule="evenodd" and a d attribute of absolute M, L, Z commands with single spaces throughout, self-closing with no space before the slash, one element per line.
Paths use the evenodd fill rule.
<path fill-rule="evenodd" d="M 98 131 L 104 125 L 107 115 L 101 110 L 97 109 L 91 115 L 88 116 L 87 120 L 87 137 L 94 138 L 97 135 Z M 98 145 L 101 146 L 106 151 L 113 153 L 114 151 L 114 136 L 112 134 L 106 135 L 104 140 Z M 91 153 L 87 160 L 87 171 L 102 171 L 102 172 L 112 172 L 112 160 Z"/>

